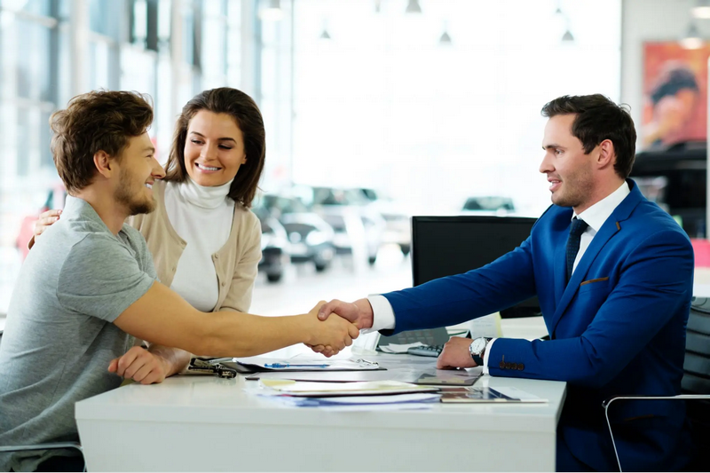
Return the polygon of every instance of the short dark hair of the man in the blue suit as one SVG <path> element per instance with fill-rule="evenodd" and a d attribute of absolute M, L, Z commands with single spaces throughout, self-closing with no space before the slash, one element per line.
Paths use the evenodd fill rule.
<path fill-rule="evenodd" d="M 542 116 L 574 114 L 572 136 L 582 142 L 586 154 L 605 139 L 611 140 L 616 153 L 614 170 L 627 178 L 634 166 L 636 129 L 631 115 L 602 94 L 564 95 L 542 107 Z"/>

